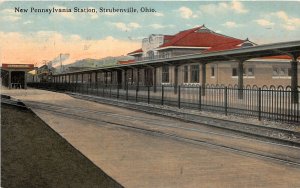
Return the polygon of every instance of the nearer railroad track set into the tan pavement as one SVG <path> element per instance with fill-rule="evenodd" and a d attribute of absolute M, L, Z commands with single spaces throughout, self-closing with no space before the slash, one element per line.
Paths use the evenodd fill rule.
<path fill-rule="evenodd" d="M 192 132 L 197 132 L 197 133 L 201 133 L 201 134 L 205 133 L 205 134 L 209 134 L 209 135 L 218 135 L 218 136 L 222 136 L 225 138 L 240 139 L 240 140 L 244 140 L 244 141 L 248 141 L 248 142 L 253 141 L 252 139 L 249 139 L 249 138 L 243 137 L 243 136 L 236 136 L 236 135 L 225 134 L 225 133 L 220 134 L 220 133 L 214 132 L 213 130 L 212 131 L 203 131 L 201 129 L 201 127 L 199 127 L 199 129 L 198 129 L 198 128 L 187 128 L 187 127 L 181 127 L 181 126 L 168 124 L 168 123 L 172 123 L 172 121 L 166 121 L 162 124 L 155 118 L 133 117 L 133 116 L 128 116 L 128 115 L 122 115 L 119 113 L 103 111 L 103 110 L 91 110 L 91 109 L 83 110 L 82 108 L 79 108 L 79 107 L 74 108 L 73 106 L 68 107 L 65 105 L 53 105 L 53 104 L 40 103 L 40 102 L 36 103 L 34 101 L 26 101 L 26 104 L 33 109 L 39 109 L 39 110 L 43 110 L 43 111 L 52 112 L 52 113 L 55 113 L 60 116 L 65 116 L 65 117 L 69 117 L 69 118 L 71 117 L 73 119 L 78 119 L 78 120 L 83 120 L 83 121 L 90 121 L 90 122 L 94 122 L 97 124 L 99 124 L 99 122 L 105 123 L 108 127 L 114 126 L 114 127 L 118 127 L 118 128 L 130 129 L 130 130 L 142 132 L 144 134 L 152 134 L 155 136 L 170 137 L 172 139 L 181 140 L 181 141 L 185 141 L 185 142 L 189 142 L 189 143 L 201 144 L 201 145 L 205 145 L 208 147 L 214 147 L 214 148 L 218 148 L 218 149 L 219 148 L 226 149 L 226 150 L 230 150 L 231 152 L 237 152 L 239 154 L 243 154 L 243 155 L 247 155 L 247 156 L 256 156 L 259 158 L 270 159 L 270 160 L 275 160 L 278 162 L 283 162 L 283 163 L 287 163 L 287 164 L 293 164 L 293 165 L 300 166 L 300 159 L 294 160 L 291 158 L 282 158 L 281 156 L 276 156 L 276 155 L 268 155 L 268 154 L 264 154 L 264 153 L 247 151 L 247 150 L 239 149 L 236 147 L 224 145 L 222 143 L 211 142 L 211 141 L 207 141 L 205 139 L 203 140 L 203 139 L 198 139 L 198 138 L 186 137 L 186 136 L 176 134 L 173 132 L 172 133 L 165 132 L 160 129 L 151 129 L 150 127 L 153 127 L 153 126 L 156 126 L 158 128 L 168 127 L 168 128 L 173 128 L 173 129 L 177 129 L 180 131 L 192 131 Z M 105 118 L 103 118 L 103 117 L 109 117 L 109 119 L 105 120 Z M 126 120 L 127 120 L 127 123 L 126 123 Z M 128 123 L 128 122 L 133 122 L 136 120 L 147 123 L 148 127 L 137 127 L 137 126 L 134 126 L 134 125 L 131 125 L 130 123 Z M 275 143 L 268 143 L 268 144 L 270 144 L 270 147 L 277 145 Z M 291 147 L 291 146 L 286 146 L 286 147 L 290 147 L 290 149 L 297 150 L 297 152 L 300 154 L 299 148 Z"/>

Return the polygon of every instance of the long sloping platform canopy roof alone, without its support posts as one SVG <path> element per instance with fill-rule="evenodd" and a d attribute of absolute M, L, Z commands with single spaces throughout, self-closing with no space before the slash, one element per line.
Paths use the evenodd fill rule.
<path fill-rule="evenodd" d="M 164 63 L 170 63 L 176 65 L 176 64 L 183 64 L 188 61 L 210 63 L 210 62 L 224 61 L 224 60 L 248 60 L 253 58 L 278 56 L 278 55 L 288 55 L 291 57 L 291 59 L 296 60 L 300 56 L 300 40 L 257 45 L 257 46 L 247 46 L 239 49 L 216 51 L 210 53 L 197 53 L 197 54 L 173 56 L 169 58 L 137 60 L 135 63 L 130 63 L 130 64 L 117 64 L 112 66 L 106 66 L 103 68 L 101 67 L 90 68 L 87 70 L 73 71 L 64 74 L 91 72 L 97 70 L 110 70 L 110 69 L 118 69 L 118 68 L 126 69 L 126 68 L 134 68 L 134 67 L 142 68 L 148 66 L 156 67 L 156 66 L 161 66 Z"/>

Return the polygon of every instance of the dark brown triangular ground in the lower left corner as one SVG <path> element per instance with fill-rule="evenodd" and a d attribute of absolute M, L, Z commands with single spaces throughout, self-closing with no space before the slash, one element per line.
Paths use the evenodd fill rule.
<path fill-rule="evenodd" d="M 27 109 L 1 106 L 1 186 L 122 187 Z"/>

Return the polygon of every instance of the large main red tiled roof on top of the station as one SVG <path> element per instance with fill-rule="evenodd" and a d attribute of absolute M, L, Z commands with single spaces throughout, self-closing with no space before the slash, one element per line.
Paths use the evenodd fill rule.
<path fill-rule="evenodd" d="M 214 32 L 197 32 L 203 26 L 181 31 L 167 43 L 160 47 L 186 46 L 186 47 L 212 47 L 224 43 L 242 43 L 243 40 L 217 34 Z"/>

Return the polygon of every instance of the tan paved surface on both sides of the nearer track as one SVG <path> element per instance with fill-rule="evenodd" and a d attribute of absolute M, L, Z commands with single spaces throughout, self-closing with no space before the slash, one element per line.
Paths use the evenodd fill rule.
<path fill-rule="evenodd" d="M 60 93 L 35 89 L 2 90 L 2 93 L 19 98 L 25 104 L 27 101 L 36 101 L 64 105 L 70 109 L 109 111 L 156 119 L 162 123 L 194 126 L 168 118 L 78 100 Z M 34 108 L 33 111 L 125 187 L 300 187 L 299 166 L 123 129 L 104 121 L 79 120 Z M 110 120 L 114 119 L 116 118 L 110 117 Z M 127 123 L 147 126 L 147 123 L 138 120 Z"/>

